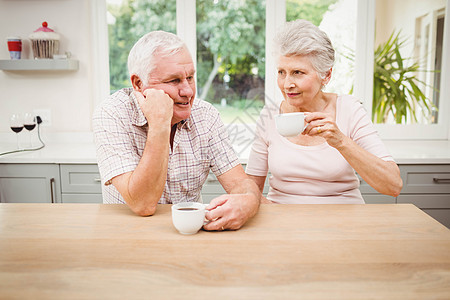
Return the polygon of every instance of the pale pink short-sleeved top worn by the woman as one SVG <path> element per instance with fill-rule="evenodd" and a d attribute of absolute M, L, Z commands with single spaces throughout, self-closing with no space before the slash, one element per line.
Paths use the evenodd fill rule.
<path fill-rule="evenodd" d="M 364 203 L 359 180 L 335 148 L 323 143 L 301 146 L 281 136 L 274 116 L 279 108 L 261 111 L 246 172 L 269 177 L 267 199 L 277 203 Z M 336 124 L 359 146 L 386 161 L 394 161 L 378 136 L 364 107 L 350 95 L 338 96 Z"/>

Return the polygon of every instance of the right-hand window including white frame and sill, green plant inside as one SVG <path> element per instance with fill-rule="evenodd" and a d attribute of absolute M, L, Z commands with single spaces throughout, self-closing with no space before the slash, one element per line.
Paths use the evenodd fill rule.
<path fill-rule="evenodd" d="M 442 56 L 449 47 L 449 25 L 444 22 L 448 1 L 377 0 L 362 4 L 358 18 L 365 18 L 365 26 L 361 26 L 358 38 L 367 47 L 359 47 L 356 67 L 360 67 L 359 74 L 366 71 L 375 79 L 362 75 L 359 95 L 378 101 L 365 102 L 365 106 L 379 123 L 380 135 L 384 139 L 448 139 L 449 122 L 442 117 L 449 113 L 450 101 L 448 87 L 442 84 L 450 71 Z M 361 19 L 358 24 L 362 24 Z M 396 61 L 386 64 L 388 57 Z M 364 61 L 374 61 L 374 65 Z M 380 88 L 386 83 L 397 88 Z M 408 102 L 401 93 L 407 95 Z"/>

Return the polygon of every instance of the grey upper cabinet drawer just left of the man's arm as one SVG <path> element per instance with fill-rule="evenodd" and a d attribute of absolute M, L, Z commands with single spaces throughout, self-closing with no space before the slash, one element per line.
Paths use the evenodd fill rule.
<path fill-rule="evenodd" d="M 101 194 L 97 165 L 61 165 L 61 189 L 63 193 Z"/>

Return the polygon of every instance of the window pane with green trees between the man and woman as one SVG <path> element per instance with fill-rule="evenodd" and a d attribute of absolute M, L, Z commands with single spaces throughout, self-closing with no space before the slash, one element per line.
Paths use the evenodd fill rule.
<path fill-rule="evenodd" d="M 197 0 L 197 90 L 227 124 L 264 106 L 265 1 Z"/>

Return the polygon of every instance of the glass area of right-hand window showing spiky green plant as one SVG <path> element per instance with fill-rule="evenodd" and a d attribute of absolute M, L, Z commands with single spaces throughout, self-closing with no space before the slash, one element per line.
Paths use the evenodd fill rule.
<path fill-rule="evenodd" d="M 376 5 L 374 121 L 436 124 L 445 1 Z"/>

